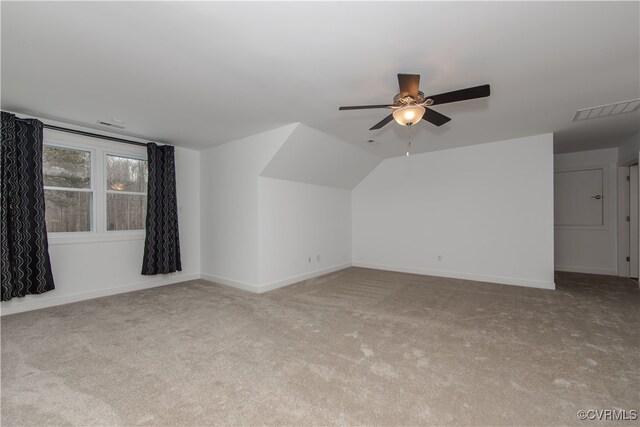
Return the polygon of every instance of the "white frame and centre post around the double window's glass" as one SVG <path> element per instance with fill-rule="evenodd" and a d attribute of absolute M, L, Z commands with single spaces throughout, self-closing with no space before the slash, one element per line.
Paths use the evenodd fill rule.
<path fill-rule="evenodd" d="M 112 142 L 84 135 L 76 135 L 52 129 L 44 130 L 44 145 L 90 152 L 91 186 L 93 190 L 91 231 L 49 232 L 47 233 L 49 244 L 64 245 L 74 243 L 103 243 L 108 241 L 144 240 L 144 229 L 113 231 L 107 230 L 106 163 L 107 155 L 148 161 L 147 150 L 145 147 L 126 145 L 118 142 Z M 126 192 L 116 193 L 124 194 Z"/>

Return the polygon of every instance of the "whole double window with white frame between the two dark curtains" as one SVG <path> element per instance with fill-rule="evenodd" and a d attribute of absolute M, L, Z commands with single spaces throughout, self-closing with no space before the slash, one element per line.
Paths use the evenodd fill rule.
<path fill-rule="evenodd" d="M 45 129 L 43 175 L 50 241 L 144 238 L 144 147 Z"/>

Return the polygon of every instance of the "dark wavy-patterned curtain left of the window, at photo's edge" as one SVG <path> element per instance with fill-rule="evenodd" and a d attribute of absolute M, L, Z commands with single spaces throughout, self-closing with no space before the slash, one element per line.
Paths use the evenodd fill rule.
<path fill-rule="evenodd" d="M 42 181 L 42 123 L 2 112 L 2 301 L 54 288 Z"/>

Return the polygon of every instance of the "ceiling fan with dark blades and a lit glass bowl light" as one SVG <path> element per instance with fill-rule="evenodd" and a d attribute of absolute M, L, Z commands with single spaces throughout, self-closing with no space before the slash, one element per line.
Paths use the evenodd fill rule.
<path fill-rule="evenodd" d="M 424 93 L 418 90 L 420 87 L 419 74 L 398 74 L 398 84 L 400 86 L 400 93 L 393 98 L 393 104 L 356 105 L 351 107 L 340 107 L 339 110 L 365 110 L 371 108 L 391 108 L 393 110 L 392 114 L 389 114 L 387 117 L 380 120 L 369 130 L 380 129 L 394 119 L 402 126 L 412 126 L 418 123 L 421 119 L 436 126 L 442 126 L 451 119 L 428 107 L 432 105 L 448 104 L 449 102 L 484 98 L 491 94 L 489 85 L 482 85 L 454 90 L 452 92 L 441 93 L 438 95 L 424 96 Z"/>

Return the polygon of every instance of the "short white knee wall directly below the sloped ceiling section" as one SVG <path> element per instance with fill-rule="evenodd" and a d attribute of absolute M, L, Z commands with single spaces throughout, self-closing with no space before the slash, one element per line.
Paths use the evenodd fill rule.
<path fill-rule="evenodd" d="M 260 291 L 351 265 L 351 192 L 260 178 Z"/>

